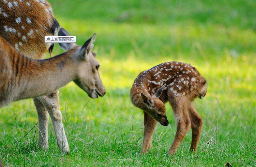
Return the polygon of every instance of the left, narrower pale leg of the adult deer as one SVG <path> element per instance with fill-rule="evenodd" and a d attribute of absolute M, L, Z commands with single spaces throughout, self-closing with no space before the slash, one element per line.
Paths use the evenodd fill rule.
<path fill-rule="evenodd" d="M 39 146 L 40 148 L 46 150 L 48 149 L 48 111 L 44 105 L 37 98 L 33 98 L 34 104 L 38 113 L 38 123 L 39 123 Z"/>

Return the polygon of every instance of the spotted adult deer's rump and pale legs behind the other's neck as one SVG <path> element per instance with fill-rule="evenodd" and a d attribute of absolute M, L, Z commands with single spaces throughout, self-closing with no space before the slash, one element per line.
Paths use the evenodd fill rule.
<path fill-rule="evenodd" d="M 42 59 L 47 51 L 52 55 L 54 43 L 45 43 L 44 36 L 57 35 L 58 30 L 59 23 L 47 1 L 1 0 L 1 36 L 26 56 Z M 39 146 L 42 149 L 48 149 L 48 113 L 52 118 L 54 129 L 62 126 L 62 122 L 57 123 L 53 119 L 53 113 L 61 115 L 58 93 L 58 91 L 55 91 L 47 96 L 33 98 L 38 113 Z M 63 152 L 68 152 L 68 142 L 64 129 L 61 134 L 57 134 L 55 130 L 55 134 L 59 148 Z M 61 143 L 65 144 L 65 148 L 62 147 Z"/>

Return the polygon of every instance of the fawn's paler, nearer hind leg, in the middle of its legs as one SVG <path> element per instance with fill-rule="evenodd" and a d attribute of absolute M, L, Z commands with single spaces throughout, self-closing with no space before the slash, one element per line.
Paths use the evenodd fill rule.
<path fill-rule="evenodd" d="M 185 97 L 173 97 L 169 96 L 169 102 L 173 108 L 173 115 L 177 126 L 177 132 L 175 134 L 173 144 L 168 151 L 170 155 L 173 155 L 184 137 L 187 135 L 190 129 L 190 118 L 188 114 L 188 100 Z"/>

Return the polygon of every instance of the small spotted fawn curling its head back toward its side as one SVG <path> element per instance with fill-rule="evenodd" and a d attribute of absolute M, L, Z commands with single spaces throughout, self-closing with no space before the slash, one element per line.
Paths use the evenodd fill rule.
<path fill-rule="evenodd" d="M 192 143 L 190 149 L 196 151 L 202 131 L 203 119 L 196 111 L 192 101 L 205 96 L 206 80 L 198 70 L 186 63 L 166 62 L 148 70 L 142 71 L 135 79 L 130 98 L 132 103 L 143 110 L 144 137 L 142 153 L 151 149 L 151 137 L 157 121 L 164 126 L 169 124 L 164 103 L 169 101 L 177 132 L 173 144 L 168 151 L 173 155 L 180 143 L 192 128 Z"/>

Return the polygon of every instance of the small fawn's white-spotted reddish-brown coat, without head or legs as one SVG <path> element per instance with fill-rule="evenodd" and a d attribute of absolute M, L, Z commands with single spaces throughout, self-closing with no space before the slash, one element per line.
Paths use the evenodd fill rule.
<path fill-rule="evenodd" d="M 203 97 L 206 94 L 206 80 L 200 75 L 198 70 L 187 63 L 166 62 L 142 71 L 135 79 L 130 97 L 133 104 L 141 106 L 141 93 L 153 96 L 153 94 L 164 84 L 159 99 L 163 102 L 168 98 L 187 97 L 193 100 L 195 97 Z"/>

